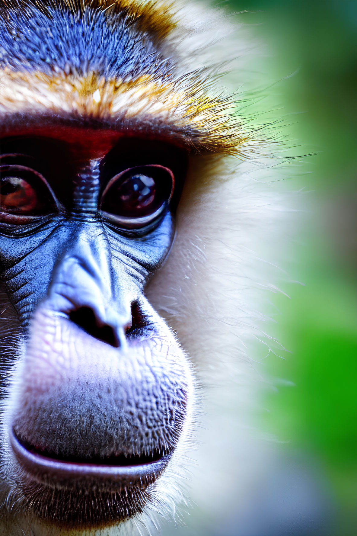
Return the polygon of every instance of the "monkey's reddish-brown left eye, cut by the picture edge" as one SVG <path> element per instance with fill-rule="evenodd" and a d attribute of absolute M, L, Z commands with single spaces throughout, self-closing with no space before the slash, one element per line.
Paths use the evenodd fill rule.
<path fill-rule="evenodd" d="M 0 211 L 5 213 L 3 219 L 21 223 L 28 217 L 47 214 L 54 199 L 43 181 L 39 173 L 25 166 L 0 166 Z"/>

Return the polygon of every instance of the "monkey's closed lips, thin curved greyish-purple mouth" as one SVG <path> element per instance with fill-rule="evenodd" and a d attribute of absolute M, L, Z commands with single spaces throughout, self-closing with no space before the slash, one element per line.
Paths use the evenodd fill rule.
<path fill-rule="evenodd" d="M 172 452 L 162 455 L 158 450 L 150 455 L 118 454 L 106 458 L 60 456 L 19 440 L 13 431 L 11 445 L 20 465 L 43 483 L 47 483 L 51 477 L 56 482 L 68 484 L 73 479 L 91 476 L 106 477 L 123 486 L 128 483 L 135 485 L 136 481 L 142 482 L 143 478 L 151 483 L 160 476 L 172 456 Z"/>

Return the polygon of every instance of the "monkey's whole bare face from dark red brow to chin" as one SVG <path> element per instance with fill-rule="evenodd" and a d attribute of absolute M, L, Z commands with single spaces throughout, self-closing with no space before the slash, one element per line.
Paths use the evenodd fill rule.
<path fill-rule="evenodd" d="M 25 333 L 3 473 L 23 509 L 93 527 L 144 508 L 188 425 L 188 362 L 144 295 L 173 240 L 187 152 L 48 133 L 0 145 L 2 278 Z"/>

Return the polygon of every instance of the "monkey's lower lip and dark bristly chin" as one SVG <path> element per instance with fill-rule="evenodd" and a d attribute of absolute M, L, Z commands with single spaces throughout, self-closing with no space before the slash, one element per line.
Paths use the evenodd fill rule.
<path fill-rule="evenodd" d="M 23 470 L 17 485 L 24 509 L 60 527 L 81 530 L 110 526 L 143 511 L 150 497 L 147 488 L 172 455 L 61 459 L 25 446 L 13 431 L 10 441 Z"/>

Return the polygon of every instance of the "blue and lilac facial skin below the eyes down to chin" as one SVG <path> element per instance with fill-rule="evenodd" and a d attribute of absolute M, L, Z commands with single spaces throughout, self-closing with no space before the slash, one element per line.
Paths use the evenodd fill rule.
<path fill-rule="evenodd" d="M 0 237 L 24 330 L 6 389 L 2 478 L 22 511 L 67 527 L 145 508 L 192 391 L 187 359 L 144 295 L 172 243 L 172 212 L 144 236 L 120 233 L 101 220 L 99 191 L 86 170 L 69 213 L 2 225 Z"/>

